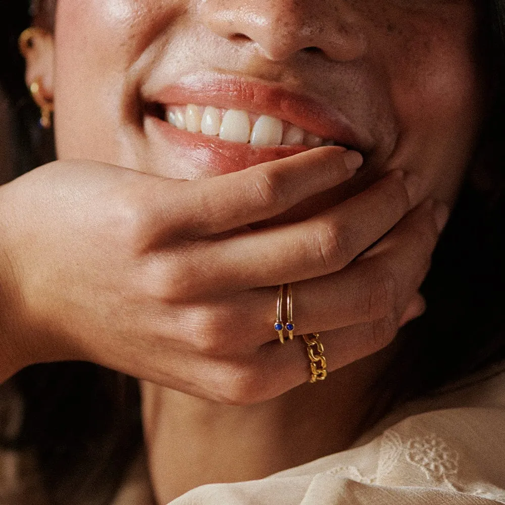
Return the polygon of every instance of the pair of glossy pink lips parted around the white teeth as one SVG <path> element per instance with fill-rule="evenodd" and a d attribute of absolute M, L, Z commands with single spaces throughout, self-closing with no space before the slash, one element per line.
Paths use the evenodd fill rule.
<path fill-rule="evenodd" d="M 176 85 L 166 86 L 144 96 L 144 101 L 147 105 L 212 105 L 223 109 L 267 114 L 322 138 L 331 138 L 339 145 L 363 149 L 363 143 L 338 111 L 305 95 L 241 77 L 219 76 L 209 79 L 190 76 Z M 305 146 L 258 148 L 250 144 L 226 142 L 219 137 L 178 130 L 155 116 L 146 116 L 146 120 L 154 122 L 156 129 L 171 145 L 178 147 L 182 156 L 191 158 L 199 166 L 210 167 L 210 175 L 243 170 L 307 150 Z"/>

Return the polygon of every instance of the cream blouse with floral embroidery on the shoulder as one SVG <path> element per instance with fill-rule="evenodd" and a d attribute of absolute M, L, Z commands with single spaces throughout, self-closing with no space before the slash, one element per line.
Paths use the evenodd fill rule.
<path fill-rule="evenodd" d="M 144 479 L 132 469 L 114 505 L 150 503 Z M 403 405 L 348 450 L 261 480 L 197 487 L 170 505 L 273 503 L 505 503 L 505 364 Z"/>

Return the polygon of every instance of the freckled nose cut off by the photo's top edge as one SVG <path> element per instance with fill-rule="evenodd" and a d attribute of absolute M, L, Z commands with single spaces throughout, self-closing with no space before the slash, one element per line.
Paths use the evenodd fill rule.
<path fill-rule="evenodd" d="M 252 43 L 283 61 L 299 51 L 331 60 L 359 59 L 366 49 L 359 19 L 343 0 L 202 0 L 200 19 L 234 44 Z"/>

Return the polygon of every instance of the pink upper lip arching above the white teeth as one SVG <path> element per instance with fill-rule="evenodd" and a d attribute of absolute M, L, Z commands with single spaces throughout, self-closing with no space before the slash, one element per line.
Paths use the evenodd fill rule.
<path fill-rule="evenodd" d="M 332 139 L 338 145 L 362 152 L 370 148 L 369 136 L 356 131 L 344 114 L 332 104 L 288 90 L 279 84 L 233 75 L 192 74 L 161 89 L 141 92 L 149 104 L 212 105 L 267 114 L 322 138 Z"/>

